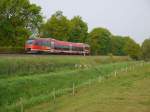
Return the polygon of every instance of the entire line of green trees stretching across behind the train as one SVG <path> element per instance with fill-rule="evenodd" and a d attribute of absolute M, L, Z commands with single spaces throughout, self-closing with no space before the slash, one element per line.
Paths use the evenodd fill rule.
<path fill-rule="evenodd" d="M 56 11 L 44 21 L 41 7 L 29 0 L 0 1 L 0 46 L 23 47 L 30 35 L 38 31 L 41 38 L 55 38 L 82 42 L 91 46 L 93 55 L 129 55 L 134 59 L 150 58 L 150 39 L 142 46 L 130 36 L 113 35 L 108 29 L 97 27 L 88 32 L 88 24 L 81 16 L 68 19 Z M 36 32 L 37 33 L 37 32 Z"/>

